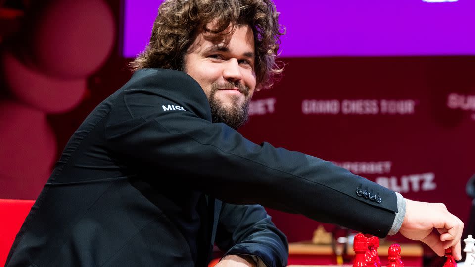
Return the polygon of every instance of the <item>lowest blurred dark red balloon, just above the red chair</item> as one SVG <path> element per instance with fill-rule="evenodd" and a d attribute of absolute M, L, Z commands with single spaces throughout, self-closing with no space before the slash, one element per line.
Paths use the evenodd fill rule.
<path fill-rule="evenodd" d="M 0 147 L 2 177 L 43 178 L 56 160 L 56 138 L 45 113 L 13 101 L 0 101 Z"/>

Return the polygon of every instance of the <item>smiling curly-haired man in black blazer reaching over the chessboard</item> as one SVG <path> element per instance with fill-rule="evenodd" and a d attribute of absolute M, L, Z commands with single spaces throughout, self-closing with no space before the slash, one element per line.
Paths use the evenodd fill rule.
<path fill-rule="evenodd" d="M 281 71 L 277 17 L 268 0 L 162 4 L 138 70 L 72 136 L 7 266 L 205 266 L 214 243 L 221 267 L 284 266 L 285 236 L 255 204 L 460 259 L 463 223 L 443 204 L 229 127 Z"/>

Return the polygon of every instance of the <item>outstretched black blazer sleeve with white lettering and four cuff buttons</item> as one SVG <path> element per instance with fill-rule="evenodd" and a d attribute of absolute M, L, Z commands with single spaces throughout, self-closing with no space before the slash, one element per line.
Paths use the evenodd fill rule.
<path fill-rule="evenodd" d="M 131 83 L 111 103 L 105 136 L 119 162 L 136 164 L 152 184 L 187 185 L 224 202 L 261 204 L 379 237 L 389 232 L 397 212 L 393 191 L 211 123 L 203 90 L 177 73 Z"/>

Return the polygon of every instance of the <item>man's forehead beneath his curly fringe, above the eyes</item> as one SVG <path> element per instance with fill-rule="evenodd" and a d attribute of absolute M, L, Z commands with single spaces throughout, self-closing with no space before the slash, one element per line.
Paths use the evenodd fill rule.
<path fill-rule="evenodd" d="M 215 47 L 218 50 L 237 54 L 254 54 L 254 34 L 248 25 L 229 26 L 219 34 L 201 30 L 190 45 L 188 52 L 202 52 Z"/>

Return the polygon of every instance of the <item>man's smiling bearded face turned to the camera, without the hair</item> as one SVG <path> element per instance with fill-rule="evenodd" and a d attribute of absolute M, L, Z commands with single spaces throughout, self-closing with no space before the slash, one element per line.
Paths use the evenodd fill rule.
<path fill-rule="evenodd" d="M 254 61 L 254 36 L 247 25 L 222 38 L 203 31 L 190 45 L 183 69 L 208 97 L 213 122 L 238 129 L 247 121 L 256 87 Z"/>

